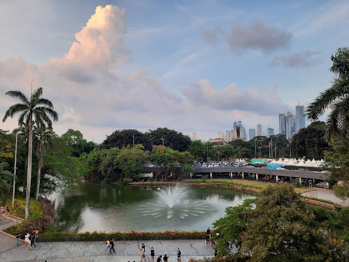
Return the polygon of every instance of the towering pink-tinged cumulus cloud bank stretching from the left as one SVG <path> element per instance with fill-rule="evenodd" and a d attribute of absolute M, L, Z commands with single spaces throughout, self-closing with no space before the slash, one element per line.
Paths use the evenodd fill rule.
<path fill-rule="evenodd" d="M 57 133 L 80 129 L 87 139 L 97 142 L 115 129 L 145 131 L 159 126 L 184 134 L 195 130 L 207 138 L 212 137 L 212 132 L 231 126 L 239 116 L 246 116 L 246 124 L 257 116 L 268 121 L 284 108 L 275 86 L 252 86 L 243 91 L 232 83 L 220 90 L 204 79 L 186 83 L 181 91 L 176 91 L 177 88 L 171 90 L 151 76 L 147 68 L 124 73 L 122 69 L 132 60 L 124 45 L 125 21 L 125 10 L 99 6 L 86 26 L 75 34 L 76 42 L 63 58 L 38 66 L 20 57 L 0 61 L 0 92 L 18 89 L 29 96 L 33 79 L 33 89 L 44 87 L 43 97 L 53 102 L 61 116 L 54 126 Z M 2 116 L 14 100 L 5 96 L 0 99 Z M 12 129 L 13 123 L 6 122 L 0 128 Z"/>

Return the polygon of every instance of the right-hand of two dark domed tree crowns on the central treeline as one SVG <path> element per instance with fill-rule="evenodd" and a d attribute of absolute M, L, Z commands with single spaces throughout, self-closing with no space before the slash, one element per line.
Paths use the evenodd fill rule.
<path fill-rule="evenodd" d="M 159 127 L 146 133 L 153 145 L 165 145 L 180 152 L 187 151 L 191 143 L 190 137 L 173 129 Z"/>

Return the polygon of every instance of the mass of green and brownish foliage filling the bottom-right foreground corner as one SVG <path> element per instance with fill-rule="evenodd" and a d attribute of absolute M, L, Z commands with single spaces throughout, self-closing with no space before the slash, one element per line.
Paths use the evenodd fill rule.
<path fill-rule="evenodd" d="M 268 186 L 256 198 L 255 206 L 245 201 L 226 212 L 214 223 L 214 232 L 220 233 L 215 240 L 219 256 L 227 255 L 230 245 L 235 245 L 239 252 L 234 256 L 248 255 L 246 261 L 349 259 L 349 246 L 337 235 L 338 226 L 334 227 L 331 219 L 324 223 L 323 218 L 317 218 L 290 184 Z M 347 222 L 342 227 L 348 231 Z"/>

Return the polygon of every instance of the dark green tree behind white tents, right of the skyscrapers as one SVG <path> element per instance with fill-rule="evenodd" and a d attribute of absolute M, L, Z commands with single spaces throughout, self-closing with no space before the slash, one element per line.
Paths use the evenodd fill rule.
<path fill-rule="evenodd" d="M 324 152 L 331 149 L 324 138 L 325 130 L 325 123 L 320 121 L 312 122 L 300 129 L 290 142 L 292 156 L 322 159 Z"/>

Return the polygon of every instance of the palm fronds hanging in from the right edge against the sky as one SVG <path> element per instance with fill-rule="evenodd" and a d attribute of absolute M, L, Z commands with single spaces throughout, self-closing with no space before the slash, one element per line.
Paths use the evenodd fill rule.
<path fill-rule="evenodd" d="M 336 74 L 332 86 L 315 98 L 308 105 L 307 118 L 318 120 L 327 108 L 331 109 L 326 119 L 325 139 L 327 142 L 349 135 L 349 48 L 338 48 L 335 55 L 331 56 L 333 66 L 329 69 Z"/>

